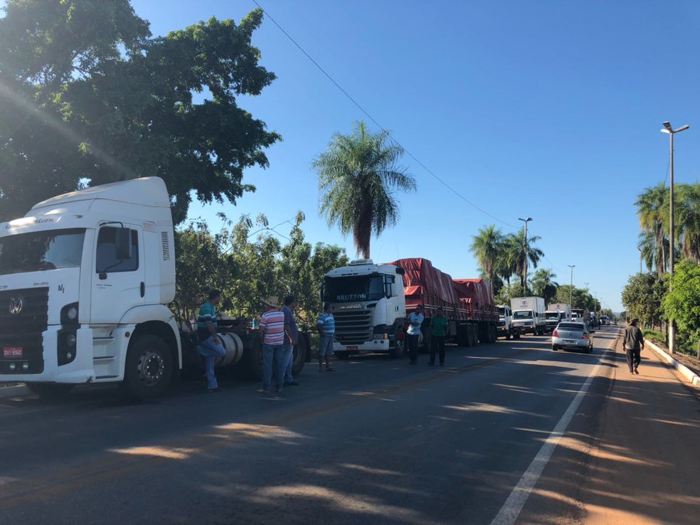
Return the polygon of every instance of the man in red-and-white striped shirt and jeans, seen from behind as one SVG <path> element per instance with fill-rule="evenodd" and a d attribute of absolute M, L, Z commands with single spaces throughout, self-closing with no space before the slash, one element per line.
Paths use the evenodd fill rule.
<path fill-rule="evenodd" d="M 277 304 L 264 301 L 265 313 L 260 317 L 260 339 L 263 340 L 263 388 L 260 393 L 270 393 L 272 383 L 272 367 L 275 369 L 275 391 L 282 393 L 282 384 L 285 381 L 285 367 L 287 363 L 283 359 L 285 349 L 285 314 Z"/>

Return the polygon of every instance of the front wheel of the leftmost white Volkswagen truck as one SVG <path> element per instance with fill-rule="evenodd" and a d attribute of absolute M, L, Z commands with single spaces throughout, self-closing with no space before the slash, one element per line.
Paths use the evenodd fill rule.
<path fill-rule="evenodd" d="M 161 396 L 173 376 L 174 362 L 168 345 L 159 336 L 137 336 L 129 345 L 124 387 L 136 398 Z"/>

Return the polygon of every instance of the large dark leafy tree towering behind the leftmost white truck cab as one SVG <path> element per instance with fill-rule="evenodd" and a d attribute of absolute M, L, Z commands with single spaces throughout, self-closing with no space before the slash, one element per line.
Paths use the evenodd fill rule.
<path fill-rule="evenodd" d="M 280 139 L 238 106 L 275 75 L 260 9 L 153 38 L 128 0 L 7 0 L 0 18 L 0 216 L 81 185 L 161 176 L 182 221 L 254 186 Z"/>

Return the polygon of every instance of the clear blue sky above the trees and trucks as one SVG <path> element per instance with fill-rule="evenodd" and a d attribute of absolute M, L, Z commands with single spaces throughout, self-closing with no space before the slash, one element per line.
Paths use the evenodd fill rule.
<path fill-rule="evenodd" d="M 474 277 L 472 235 L 492 223 L 514 232 L 530 216 L 545 253 L 539 267 L 568 284 L 576 265 L 575 286 L 588 282 L 603 307 L 622 309 L 622 287 L 639 271 L 633 203 L 642 189 L 668 184 L 664 120 L 691 125 L 675 137 L 674 182 L 699 175 L 700 2 L 258 1 L 464 197 L 405 156 L 418 191 L 399 196 L 401 221 L 373 238 L 374 260 L 425 257 L 452 277 Z M 132 1 L 154 35 L 210 16 L 238 21 L 255 8 L 252 0 L 167 5 Z M 246 171 L 255 193 L 235 207 L 194 205 L 190 216 L 218 230 L 218 211 L 262 212 L 274 225 L 302 210 L 307 240 L 354 255 L 351 238 L 319 217 L 309 163 L 354 120 L 376 127 L 270 18 L 253 42 L 277 80 L 240 105 L 284 141 L 267 150 L 269 169 Z"/>

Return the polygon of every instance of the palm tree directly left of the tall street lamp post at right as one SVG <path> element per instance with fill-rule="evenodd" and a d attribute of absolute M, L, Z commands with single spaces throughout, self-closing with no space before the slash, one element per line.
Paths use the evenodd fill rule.
<path fill-rule="evenodd" d="M 668 191 L 664 183 L 647 188 L 635 201 L 637 206 L 637 216 L 640 218 L 642 231 L 652 233 L 654 239 L 654 264 L 659 277 L 663 277 L 666 272 L 668 262 L 667 243 L 668 238 L 664 233 L 668 230 L 669 201 Z"/>

